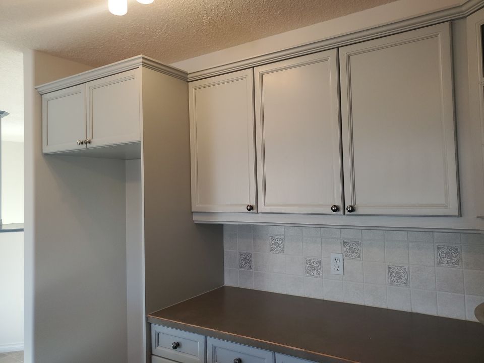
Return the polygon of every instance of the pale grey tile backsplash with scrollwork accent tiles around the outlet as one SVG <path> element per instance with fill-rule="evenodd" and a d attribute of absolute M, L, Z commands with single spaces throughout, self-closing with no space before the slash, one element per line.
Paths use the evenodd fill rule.
<path fill-rule="evenodd" d="M 224 225 L 223 239 L 228 286 L 472 321 L 484 302 L 484 234 Z"/>

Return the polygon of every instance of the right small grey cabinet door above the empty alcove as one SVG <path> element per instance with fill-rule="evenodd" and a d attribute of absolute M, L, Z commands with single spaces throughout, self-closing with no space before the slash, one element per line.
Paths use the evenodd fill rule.
<path fill-rule="evenodd" d="M 140 141 L 140 69 L 87 83 L 87 147 Z"/>

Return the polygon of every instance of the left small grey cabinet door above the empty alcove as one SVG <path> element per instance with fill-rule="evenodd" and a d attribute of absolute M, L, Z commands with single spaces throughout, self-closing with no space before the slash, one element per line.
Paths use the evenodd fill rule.
<path fill-rule="evenodd" d="M 85 84 L 42 95 L 42 134 L 44 153 L 85 148 Z"/>

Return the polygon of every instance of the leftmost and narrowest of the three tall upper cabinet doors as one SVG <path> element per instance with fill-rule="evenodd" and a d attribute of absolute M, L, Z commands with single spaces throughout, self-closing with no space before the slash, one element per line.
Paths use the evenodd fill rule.
<path fill-rule="evenodd" d="M 191 82 L 192 211 L 257 210 L 252 70 Z"/>

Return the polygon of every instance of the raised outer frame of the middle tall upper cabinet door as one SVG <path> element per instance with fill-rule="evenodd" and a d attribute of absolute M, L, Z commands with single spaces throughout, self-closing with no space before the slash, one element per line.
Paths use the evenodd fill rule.
<path fill-rule="evenodd" d="M 328 204 L 268 204 L 266 188 L 266 146 L 264 131 L 264 75 L 291 70 L 298 67 L 310 66 L 327 62 L 329 66 L 329 89 L 331 99 L 331 116 L 329 122 L 332 145 L 332 195 L 333 201 Z M 341 215 L 343 211 L 342 175 L 341 175 L 341 130 L 340 130 L 340 103 L 339 103 L 339 77 L 338 53 L 331 49 L 315 54 L 300 56 L 254 69 L 255 74 L 255 104 L 256 104 L 256 136 L 257 136 L 257 179 L 259 212 L 266 213 L 304 213 L 304 214 L 331 214 Z M 331 206 L 337 205 L 337 212 L 331 211 Z"/>

